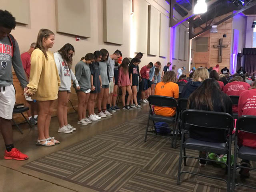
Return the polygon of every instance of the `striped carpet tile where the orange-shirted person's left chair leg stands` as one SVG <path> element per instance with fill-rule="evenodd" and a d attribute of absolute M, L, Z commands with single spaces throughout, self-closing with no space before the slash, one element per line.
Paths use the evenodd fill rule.
<path fill-rule="evenodd" d="M 136 147 L 136 148 L 143 148 L 143 149 L 158 151 L 168 141 L 167 138 L 148 136 L 147 141 L 144 142 L 144 138 L 145 138 L 145 135 L 138 135 L 134 139 L 128 141 L 125 145 Z"/>

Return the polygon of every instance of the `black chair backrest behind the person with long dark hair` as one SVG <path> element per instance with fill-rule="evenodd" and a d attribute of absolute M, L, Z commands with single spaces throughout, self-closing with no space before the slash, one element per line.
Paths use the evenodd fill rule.
<path fill-rule="evenodd" d="M 187 109 L 182 113 L 182 123 L 215 129 L 234 129 L 234 119 L 228 113 Z"/>

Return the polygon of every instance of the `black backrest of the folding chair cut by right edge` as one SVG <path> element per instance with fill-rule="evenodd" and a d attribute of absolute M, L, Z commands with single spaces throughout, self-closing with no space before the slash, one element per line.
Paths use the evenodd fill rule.
<path fill-rule="evenodd" d="M 256 134 L 256 116 L 245 115 L 236 121 L 236 130 Z"/>

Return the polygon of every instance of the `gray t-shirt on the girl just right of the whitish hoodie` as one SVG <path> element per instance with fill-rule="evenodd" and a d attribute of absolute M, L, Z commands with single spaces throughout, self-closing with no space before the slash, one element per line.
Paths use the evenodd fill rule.
<path fill-rule="evenodd" d="M 82 90 L 88 90 L 91 88 L 91 70 L 90 66 L 83 61 L 76 64 L 75 67 L 76 80 Z"/>

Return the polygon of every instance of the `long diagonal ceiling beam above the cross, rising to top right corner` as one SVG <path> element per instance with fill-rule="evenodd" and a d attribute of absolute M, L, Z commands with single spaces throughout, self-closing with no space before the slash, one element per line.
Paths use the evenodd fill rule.
<path fill-rule="evenodd" d="M 237 14 L 239 14 L 239 13 L 241 13 L 241 12 L 243 12 L 243 11 L 245 11 L 245 10 L 251 8 L 252 6 L 255 6 L 255 5 L 256 5 L 256 1 L 255 1 L 255 2 L 251 2 L 249 5 L 243 6 L 240 10 L 236 11 L 235 13 L 233 13 L 233 14 L 227 16 L 226 18 L 224 18 L 224 19 L 222 19 L 222 20 L 220 20 L 220 21 L 218 21 L 218 22 L 216 22 L 216 23 L 214 23 L 214 24 L 212 24 L 212 25 L 219 25 L 219 24 L 225 22 L 226 20 L 229 20 L 230 18 L 236 16 Z M 196 38 L 196 37 L 199 36 L 200 34 L 202 34 L 202 33 L 206 32 L 206 31 L 208 31 L 210 28 L 212 28 L 212 26 L 211 26 L 211 25 L 208 25 L 208 26 L 206 26 L 205 28 L 203 28 L 203 30 L 200 31 L 199 33 L 194 34 L 194 35 L 193 35 L 193 34 L 190 34 L 190 38 L 189 38 L 189 39 L 194 39 L 194 38 Z"/>

